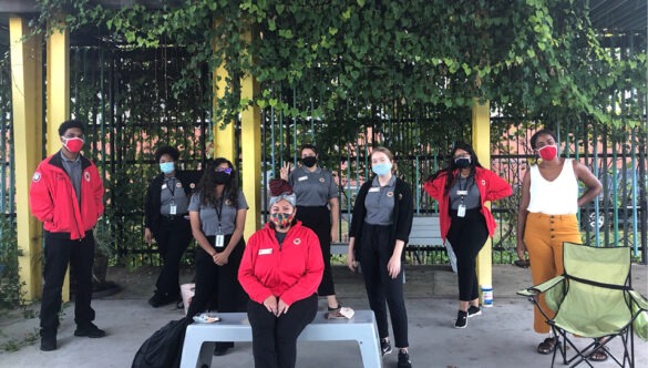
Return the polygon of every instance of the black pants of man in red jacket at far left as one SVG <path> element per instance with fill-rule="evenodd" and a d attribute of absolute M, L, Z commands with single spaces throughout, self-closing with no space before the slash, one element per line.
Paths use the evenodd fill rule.
<path fill-rule="evenodd" d="M 74 323 L 86 326 L 94 320 L 92 299 L 92 264 L 94 237 L 92 231 L 79 241 L 70 235 L 45 232 L 45 265 L 43 269 L 43 299 L 41 303 L 41 335 L 55 335 L 61 311 L 63 279 L 70 264 L 71 276 L 76 280 L 74 289 Z"/>

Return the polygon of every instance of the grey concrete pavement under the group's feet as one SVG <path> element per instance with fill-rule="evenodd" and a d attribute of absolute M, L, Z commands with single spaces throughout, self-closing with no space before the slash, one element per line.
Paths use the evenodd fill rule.
<path fill-rule="evenodd" d="M 635 289 L 648 295 L 647 267 L 634 266 Z M 109 270 L 109 279 L 123 289 L 119 294 L 93 300 L 96 325 L 109 336 L 102 339 L 73 336 L 73 307 L 66 306 L 59 331 L 59 349 L 42 352 L 38 341 L 29 344 L 38 331 L 38 319 L 23 313 L 0 316 L 0 345 L 25 344 L 16 352 L 0 354 L 0 367 L 130 367 L 142 343 L 168 320 L 178 319 L 177 309 L 151 308 L 154 270 Z M 360 275 L 343 267 L 335 268 L 338 295 L 346 306 L 368 309 Z M 189 275 L 183 276 L 188 279 Z M 515 296 L 531 285 L 526 269 L 495 266 L 494 306 L 483 308 L 482 316 L 471 318 L 466 329 L 454 329 L 456 315 L 456 277 L 449 268 L 408 267 L 407 305 L 410 326 L 410 350 L 414 367 L 548 367 L 551 357 L 535 352 L 542 336 L 532 329 L 532 306 Z M 326 304 L 320 300 L 323 310 Z M 585 344 L 585 339 L 578 344 Z M 637 367 L 648 367 L 648 344 L 636 340 Z M 618 345 L 613 345 L 619 351 Z M 397 355 L 384 358 L 384 367 L 395 367 Z M 237 344 L 223 357 L 214 357 L 212 367 L 253 367 L 251 345 Z M 297 367 L 361 367 L 359 349 L 353 343 L 300 343 Z M 562 365 L 558 365 L 562 366 Z M 611 362 L 595 364 L 611 367 Z"/>

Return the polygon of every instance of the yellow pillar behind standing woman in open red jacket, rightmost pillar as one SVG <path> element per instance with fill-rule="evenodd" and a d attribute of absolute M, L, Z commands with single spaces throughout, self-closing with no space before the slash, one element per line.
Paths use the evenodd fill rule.
<path fill-rule="evenodd" d="M 488 101 L 480 103 L 474 100 L 472 108 L 473 149 L 480 157 L 480 163 L 491 167 L 491 108 Z M 477 255 L 477 279 L 480 285 L 493 285 L 493 246 L 491 238 Z M 483 297 L 483 296 L 482 296 Z M 483 299 L 482 299 L 483 303 Z"/>

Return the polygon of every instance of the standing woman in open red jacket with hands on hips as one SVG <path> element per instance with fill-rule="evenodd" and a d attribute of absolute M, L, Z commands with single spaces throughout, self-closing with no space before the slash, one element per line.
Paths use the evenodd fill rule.
<path fill-rule="evenodd" d="M 482 167 L 466 143 L 456 143 L 448 165 L 423 185 L 439 201 L 441 237 L 450 241 L 456 254 L 459 313 L 455 328 L 465 328 L 467 318 L 482 314 L 479 299 L 476 257 L 488 236 L 495 233 L 495 219 L 485 203 L 511 195 L 511 185 Z"/>

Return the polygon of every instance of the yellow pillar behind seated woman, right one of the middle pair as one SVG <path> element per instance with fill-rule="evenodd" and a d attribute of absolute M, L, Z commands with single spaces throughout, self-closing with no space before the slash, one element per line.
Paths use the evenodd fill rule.
<path fill-rule="evenodd" d="M 251 32 L 246 32 L 249 41 Z M 259 90 L 257 81 L 251 75 L 245 75 L 240 81 L 240 98 L 253 100 Z M 245 222 L 245 238 L 260 228 L 261 224 L 261 114 L 256 104 L 248 106 L 240 115 L 241 161 L 243 161 L 243 193 L 249 206 Z M 245 147 L 244 143 L 245 142 Z"/>

